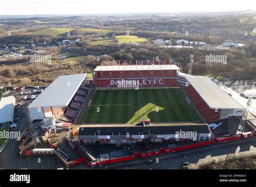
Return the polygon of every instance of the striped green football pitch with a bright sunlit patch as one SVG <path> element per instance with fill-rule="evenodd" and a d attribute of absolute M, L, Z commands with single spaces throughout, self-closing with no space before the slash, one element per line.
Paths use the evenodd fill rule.
<path fill-rule="evenodd" d="M 96 90 L 83 124 L 200 122 L 180 88 Z"/>

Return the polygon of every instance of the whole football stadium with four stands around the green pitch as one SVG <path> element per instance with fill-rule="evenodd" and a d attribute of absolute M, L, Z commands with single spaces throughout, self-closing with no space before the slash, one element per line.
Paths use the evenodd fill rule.
<path fill-rule="evenodd" d="M 121 145 L 177 141 L 179 131 L 210 140 L 208 124 L 245 112 L 210 78 L 180 73 L 171 61 L 102 62 L 93 82 L 85 77 L 57 78 L 29 105 L 31 119 L 54 116 L 58 123 L 80 125 L 82 143 Z"/>

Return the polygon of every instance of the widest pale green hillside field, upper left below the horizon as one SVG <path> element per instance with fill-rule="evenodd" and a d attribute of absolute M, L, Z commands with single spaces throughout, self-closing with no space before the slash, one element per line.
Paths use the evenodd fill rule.
<path fill-rule="evenodd" d="M 111 32 L 110 30 L 103 30 L 103 29 L 97 29 L 97 28 L 43 28 L 37 31 L 29 32 L 28 34 L 50 34 L 50 35 L 60 35 L 67 33 L 69 31 L 78 29 L 82 32 L 95 32 L 100 34 L 106 34 L 108 32 Z"/>

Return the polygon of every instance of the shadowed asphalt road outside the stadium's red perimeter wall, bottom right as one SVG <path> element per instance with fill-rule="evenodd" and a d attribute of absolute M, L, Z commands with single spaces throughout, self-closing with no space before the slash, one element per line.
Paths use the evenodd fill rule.
<path fill-rule="evenodd" d="M 232 157 L 233 155 L 237 156 L 248 153 L 256 153 L 256 138 L 193 149 L 189 152 L 157 155 L 133 161 L 136 163 L 129 164 L 130 161 L 126 162 L 126 164 L 114 163 L 113 165 L 109 164 L 107 167 L 109 169 L 181 169 L 184 161 L 190 163 L 206 163 L 215 161 L 216 159 L 225 159 L 227 156 Z M 159 159 L 159 162 L 146 164 L 145 161 L 148 159 L 155 162 Z"/>

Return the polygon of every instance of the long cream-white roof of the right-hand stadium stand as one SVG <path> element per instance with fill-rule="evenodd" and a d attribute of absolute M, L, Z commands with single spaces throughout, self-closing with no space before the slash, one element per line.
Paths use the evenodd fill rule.
<path fill-rule="evenodd" d="M 236 100 L 218 87 L 206 76 L 193 76 L 183 74 L 187 81 L 197 90 L 201 98 L 211 109 L 244 109 Z"/>

